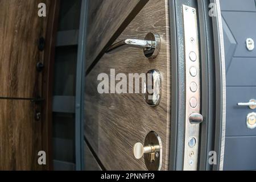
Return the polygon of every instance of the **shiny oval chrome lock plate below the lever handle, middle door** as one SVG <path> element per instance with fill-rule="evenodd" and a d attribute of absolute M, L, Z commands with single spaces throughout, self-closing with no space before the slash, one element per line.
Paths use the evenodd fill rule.
<path fill-rule="evenodd" d="M 151 69 L 146 74 L 144 82 L 144 100 L 150 106 L 157 106 L 161 100 L 162 77 L 157 69 Z"/>

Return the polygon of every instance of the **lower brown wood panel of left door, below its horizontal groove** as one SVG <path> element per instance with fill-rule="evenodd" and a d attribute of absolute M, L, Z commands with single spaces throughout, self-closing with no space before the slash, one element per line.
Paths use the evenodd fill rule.
<path fill-rule="evenodd" d="M 0 170 L 39 170 L 41 123 L 30 101 L 0 100 Z"/>

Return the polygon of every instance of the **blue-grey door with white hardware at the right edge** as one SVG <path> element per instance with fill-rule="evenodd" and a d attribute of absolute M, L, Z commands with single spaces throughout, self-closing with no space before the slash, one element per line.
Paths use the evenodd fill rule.
<path fill-rule="evenodd" d="M 256 129 L 253 99 L 256 97 L 256 50 L 253 49 L 253 42 L 256 40 L 256 2 L 220 2 L 227 96 L 224 169 L 255 170 Z M 250 100 L 251 104 L 248 103 Z"/>

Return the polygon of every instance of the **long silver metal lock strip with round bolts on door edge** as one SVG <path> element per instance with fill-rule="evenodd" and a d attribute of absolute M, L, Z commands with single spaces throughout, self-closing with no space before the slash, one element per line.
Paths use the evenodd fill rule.
<path fill-rule="evenodd" d="M 200 52 L 199 30 L 197 26 L 197 10 L 183 5 L 184 46 L 185 46 L 185 143 L 184 164 L 185 171 L 196 171 L 199 158 L 200 123 L 191 123 L 191 115 L 200 113 Z M 192 41 L 191 41 L 192 40 Z M 195 53 L 191 56 L 191 53 Z M 191 91 L 191 83 L 195 82 L 197 89 Z M 196 120 L 198 117 L 196 117 Z M 200 117 L 199 117 L 200 118 Z M 195 119 L 195 118 L 194 118 Z M 202 117 L 203 119 L 203 117 Z M 191 139 L 195 142 L 191 145 Z"/>

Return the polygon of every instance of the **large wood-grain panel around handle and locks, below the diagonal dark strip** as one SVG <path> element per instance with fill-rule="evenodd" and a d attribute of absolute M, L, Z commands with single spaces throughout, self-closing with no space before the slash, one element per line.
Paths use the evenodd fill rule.
<path fill-rule="evenodd" d="M 156 131 L 162 139 L 162 170 L 168 169 L 171 65 L 167 4 L 168 1 L 164 0 L 149 1 L 117 39 L 144 39 L 148 32 L 158 33 L 162 44 L 156 59 L 146 59 L 142 49 L 123 49 L 111 55 L 105 54 L 86 77 L 85 137 L 108 170 L 146 169 L 143 158 L 134 158 L 133 145 L 144 143 L 150 131 Z M 143 94 L 98 94 L 100 81 L 97 81 L 97 76 L 99 73 L 109 75 L 110 69 L 115 69 L 116 74 L 126 75 L 158 69 L 162 73 L 160 104 L 148 106 Z"/>

